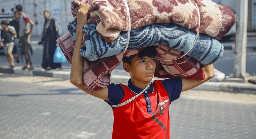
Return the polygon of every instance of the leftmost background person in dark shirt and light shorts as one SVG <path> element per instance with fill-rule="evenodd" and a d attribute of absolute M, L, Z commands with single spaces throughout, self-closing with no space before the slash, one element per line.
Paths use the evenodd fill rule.
<path fill-rule="evenodd" d="M 14 60 L 12 55 L 14 42 L 12 40 L 12 35 L 16 35 L 17 33 L 14 30 L 8 28 L 8 22 L 5 20 L 1 22 L 1 26 L 3 28 L 1 30 L 1 46 L 4 47 L 4 52 L 7 56 L 10 67 L 14 68 Z"/>

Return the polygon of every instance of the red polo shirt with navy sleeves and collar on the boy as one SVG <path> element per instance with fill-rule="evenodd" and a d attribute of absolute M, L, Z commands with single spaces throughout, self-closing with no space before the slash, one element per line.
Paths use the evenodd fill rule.
<path fill-rule="evenodd" d="M 112 107 L 112 139 L 169 139 L 169 105 L 180 97 L 181 89 L 181 78 L 155 80 L 148 90 L 132 102 Z M 142 90 L 134 86 L 131 80 L 127 86 L 112 83 L 108 86 L 108 103 L 123 103 Z"/>

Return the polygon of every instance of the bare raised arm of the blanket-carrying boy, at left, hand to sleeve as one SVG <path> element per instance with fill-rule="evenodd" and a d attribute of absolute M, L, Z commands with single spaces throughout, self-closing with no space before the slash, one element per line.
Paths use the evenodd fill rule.
<path fill-rule="evenodd" d="M 84 24 L 87 22 L 87 12 L 88 12 L 89 4 L 80 4 L 79 5 L 79 10 L 77 12 L 77 28 L 76 28 L 76 41 L 75 41 L 75 46 L 74 46 L 74 51 L 73 51 L 73 56 L 72 56 L 72 64 L 71 64 L 71 72 L 70 72 L 70 82 L 75 85 L 77 88 L 83 90 L 84 92 L 109 101 L 108 99 L 108 89 L 103 88 L 101 90 L 95 91 L 95 92 L 90 92 L 87 89 L 84 88 L 83 86 L 83 57 L 80 56 L 79 50 L 82 46 L 82 37 L 83 37 L 83 32 L 82 32 L 82 27 Z"/>

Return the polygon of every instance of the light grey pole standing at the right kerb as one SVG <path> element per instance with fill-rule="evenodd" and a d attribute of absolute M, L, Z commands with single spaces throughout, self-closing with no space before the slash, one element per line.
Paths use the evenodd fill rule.
<path fill-rule="evenodd" d="M 246 73 L 248 0 L 237 0 L 234 77 L 244 78 Z"/>

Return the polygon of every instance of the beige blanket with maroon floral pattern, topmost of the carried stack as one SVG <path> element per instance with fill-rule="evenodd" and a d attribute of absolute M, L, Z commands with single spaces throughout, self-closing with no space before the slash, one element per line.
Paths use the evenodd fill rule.
<path fill-rule="evenodd" d="M 200 12 L 200 33 L 216 39 L 226 34 L 235 23 L 233 11 L 211 0 L 127 0 L 131 29 L 153 23 L 176 23 L 194 32 L 198 30 L 197 7 Z M 80 3 L 90 4 L 88 23 L 97 23 L 96 30 L 110 40 L 121 31 L 128 31 L 129 20 L 123 0 L 75 0 L 71 13 L 76 20 Z"/>

